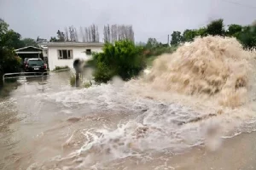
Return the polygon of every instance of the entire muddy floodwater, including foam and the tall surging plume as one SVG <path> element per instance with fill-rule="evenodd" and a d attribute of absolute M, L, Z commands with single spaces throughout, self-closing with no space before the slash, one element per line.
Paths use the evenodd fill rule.
<path fill-rule="evenodd" d="M 224 40 L 212 37 L 202 41 L 236 59 L 214 60 L 212 54 L 210 71 L 189 72 L 191 60 L 182 62 L 183 69 L 168 70 L 166 63 L 179 65 L 180 56 L 187 54 L 183 50 L 194 54 L 184 46 L 172 55 L 174 61 L 164 55 L 148 76 L 130 82 L 117 78 L 72 88 L 68 71 L 50 73 L 43 82 L 20 79 L 21 85 L 0 101 L 0 169 L 256 169 L 256 88 L 253 77 L 243 70 L 252 63 L 244 63 L 243 54 L 237 57 L 234 40 L 222 45 L 218 41 Z M 225 44 L 232 44 L 237 55 L 229 50 L 225 54 Z M 195 54 L 206 52 L 198 49 Z M 220 83 L 211 83 L 210 90 L 191 88 L 205 80 L 200 73 L 219 75 L 219 65 L 219 71 L 228 75 L 228 85 L 212 76 Z M 194 77 L 189 88 L 188 76 Z M 239 87 L 232 84 L 232 79 L 246 76 Z M 233 86 L 238 88 L 230 94 Z"/>

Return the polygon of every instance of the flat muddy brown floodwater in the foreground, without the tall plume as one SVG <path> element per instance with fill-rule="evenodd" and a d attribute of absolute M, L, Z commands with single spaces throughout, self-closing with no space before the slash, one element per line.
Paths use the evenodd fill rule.
<path fill-rule="evenodd" d="M 69 77 L 20 79 L 1 101 L 0 169 L 256 169 L 253 116 L 189 123 L 201 113 L 132 83 L 71 88 Z M 209 126 L 229 128 L 207 137 Z"/>

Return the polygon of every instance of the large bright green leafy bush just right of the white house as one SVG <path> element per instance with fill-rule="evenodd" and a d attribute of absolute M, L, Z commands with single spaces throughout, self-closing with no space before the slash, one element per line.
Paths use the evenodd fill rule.
<path fill-rule="evenodd" d="M 96 63 L 96 82 L 108 82 L 114 76 L 123 80 L 137 76 L 146 66 L 142 52 L 143 48 L 136 47 L 128 40 L 115 44 L 106 43 L 103 52 L 93 56 Z"/>

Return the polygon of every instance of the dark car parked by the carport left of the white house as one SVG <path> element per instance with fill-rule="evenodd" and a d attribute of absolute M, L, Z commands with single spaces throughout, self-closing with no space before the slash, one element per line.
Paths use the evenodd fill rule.
<path fill-rule="evenodd" d="M 26 72 L 46 72 L 47 68 L 42 59 L 27 59 L 25 65 Z"/>

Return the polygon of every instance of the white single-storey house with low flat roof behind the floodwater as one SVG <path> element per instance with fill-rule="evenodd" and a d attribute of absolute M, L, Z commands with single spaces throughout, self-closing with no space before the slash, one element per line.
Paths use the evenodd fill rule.
<path fill-rule="evenodd" d="M 47 42 L 41 44 L 44 47 L 44 57 L 48 57 L 50 71 L 55 66 L 69 66 L 73 68 L 74 59 L 88 60 L 92 52 L 102 52 L 102 42 Z"/>

